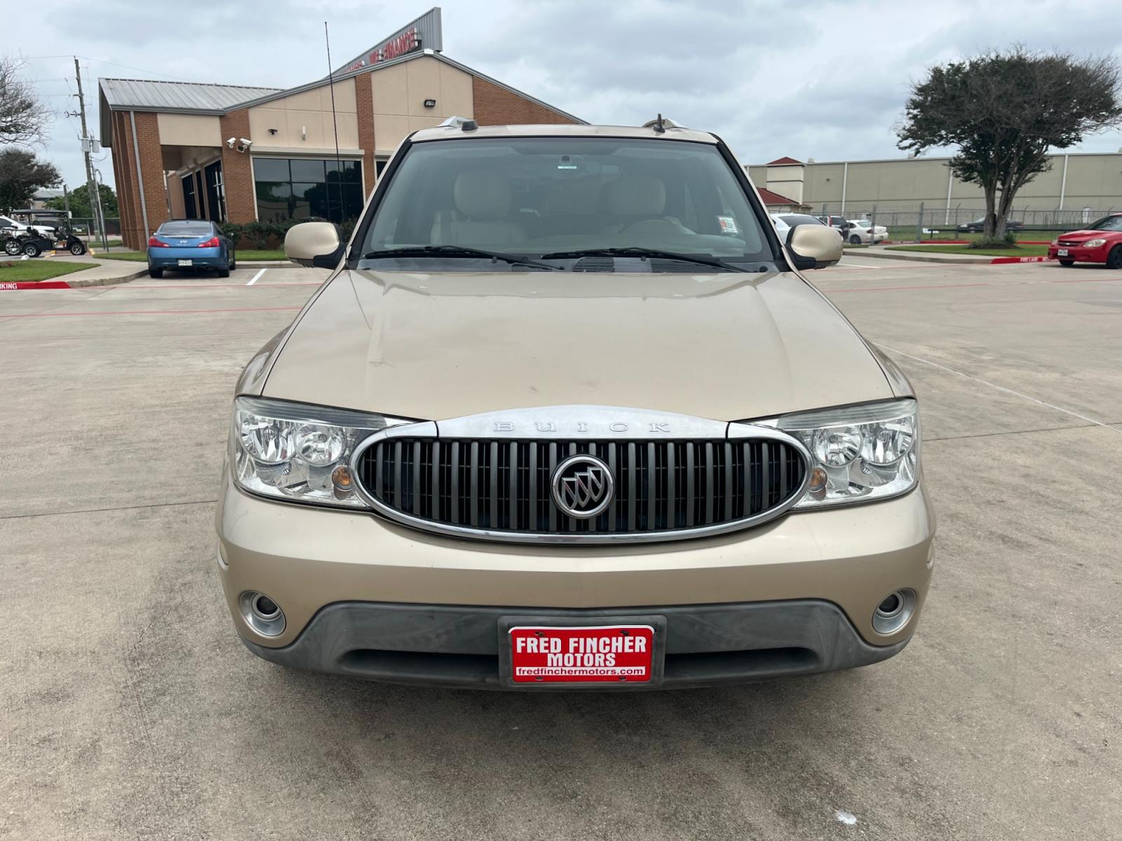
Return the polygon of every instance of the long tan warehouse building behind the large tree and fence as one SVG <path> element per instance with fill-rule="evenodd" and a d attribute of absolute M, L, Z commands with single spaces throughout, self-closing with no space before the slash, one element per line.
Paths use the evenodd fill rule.
<path fill-rule="evenodd" d="M 874 207 L 905 219 L 923 206 L 926 223 L 958 223 L 985 209 L 981 188 L 955 178 L 950 158 L 894 158 L 816 163 L 784 157 L 748 166 L 760 187 L 816 213 L 862 215 Z M 1122 210 L 1122 151 L 1059 154 L 1050 168 L 1020 190 L 1013 218 L 1039 224 L 1078 224 Z M 891 223 L 891 222 L 890 222 Z"/>

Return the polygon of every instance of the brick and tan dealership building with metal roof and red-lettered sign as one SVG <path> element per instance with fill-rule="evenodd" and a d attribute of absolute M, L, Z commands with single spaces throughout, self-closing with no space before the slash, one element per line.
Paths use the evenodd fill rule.
<path fill-rule="evenodd" d="M 439 8 L 331 82 L 282 90 L 101 78 L 99 93 L 121 234 L 135 249 L 167 219 L 357 216 L 397 145 L 449 117 L 583 122 L 444 56 Z"/>

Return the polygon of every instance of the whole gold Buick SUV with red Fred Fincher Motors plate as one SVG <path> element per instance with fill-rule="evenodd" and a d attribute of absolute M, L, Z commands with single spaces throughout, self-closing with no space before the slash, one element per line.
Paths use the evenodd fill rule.
<path fill-rule="evenodd" d="M 259 657 L 401 683 L 645 690 L 911 639 L 935 516 L 916 397 L 714 135 L 411 135 L 246 367 L 219 572 Z M 741 277 L 744 275 L 745 277 Z"/>

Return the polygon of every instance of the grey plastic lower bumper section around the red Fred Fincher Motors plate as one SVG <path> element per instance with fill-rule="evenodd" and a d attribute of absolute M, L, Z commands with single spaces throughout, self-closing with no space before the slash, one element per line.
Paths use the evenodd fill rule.
<path fill-rule="evenodd" d="M 908 640 L 871 646 L 836 604 L 825 601 L 670 606 L 625 610 L 525 610 L 339 602 L 309 622 L 294 643 L 266 648 L 242 640 L 273 663 L 390 683 L 528 691 L 572 690 L 559 684 L 511 684 L 503 622 L 617 625 L 665 622 L 661 680 L 601 683 L 603 690 L 675 688 L 807 675 L 877 663 Z"/>

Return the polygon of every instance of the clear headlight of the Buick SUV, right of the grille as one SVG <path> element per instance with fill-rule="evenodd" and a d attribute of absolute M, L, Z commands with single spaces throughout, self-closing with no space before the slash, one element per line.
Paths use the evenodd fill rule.
<path fill-rule="evenodd" d="M 784 415 L 775 426 L 806 444 L 813 460 L 810 488 L 795 508 L 885 499 L 916 487 L 916 400 Z"/>

